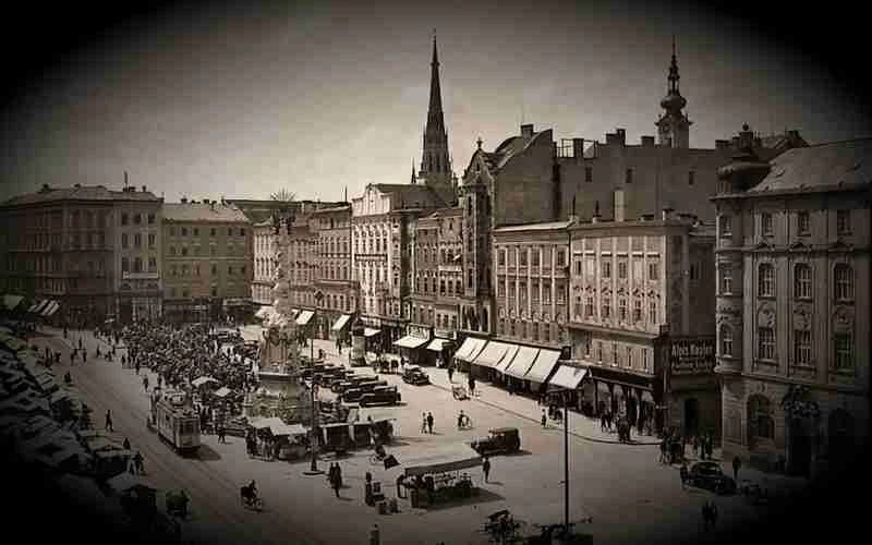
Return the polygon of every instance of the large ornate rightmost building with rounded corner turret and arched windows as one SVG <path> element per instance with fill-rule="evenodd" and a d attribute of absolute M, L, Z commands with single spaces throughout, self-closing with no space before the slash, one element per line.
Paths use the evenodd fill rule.
<path fill-rule="evenodd" d="M 868 441 L 872 140 L 768 162 L 751 140 L 713 198 L 723 448 L 809 474 Z"/>

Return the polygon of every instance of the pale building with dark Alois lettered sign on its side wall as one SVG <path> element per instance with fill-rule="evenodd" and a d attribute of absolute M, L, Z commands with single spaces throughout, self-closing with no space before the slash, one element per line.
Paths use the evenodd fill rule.
<path fill-rule="evenodd" d="M 640 429 L 717 435 L 713 229 L 664 210 L 658 220 L 594 216 L 569 238 L 571 352 L 588 368 L 589 410 L 626 414 Z"/>

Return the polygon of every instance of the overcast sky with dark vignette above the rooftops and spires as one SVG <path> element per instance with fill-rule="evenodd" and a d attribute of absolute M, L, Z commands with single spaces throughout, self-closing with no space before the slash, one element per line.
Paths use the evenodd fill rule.
<path fill-rule="evenodd" d="M 7 102 L 0 198 L 43 183 L 167 201 L 341 199 L 421 160 L 436 28 L 455 170 L 523 121 L 556 138 L 655 134 L 671 35 L 693 147 L 743 122 L 810 143 L 870 136 L 844 81 L 707 4 L 440 0 L 191 4 L 106 28 Z M 770 36 L 770 37 L 767 37 Z M 820 38 L 820 36 L 819 36 Z"/>

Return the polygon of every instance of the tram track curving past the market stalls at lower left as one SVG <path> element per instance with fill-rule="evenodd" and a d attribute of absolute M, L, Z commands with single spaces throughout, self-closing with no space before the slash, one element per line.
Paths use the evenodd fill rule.
<path fill-rule="evenodd" d="M 97 365 L 104 364 L 104 362 L 94 363 Z M 84 365 L 89 366 L 89 364 Z M 245 513 L 233 512 L 234 509 L 239 509 L 239 504 L 237 502 L 239 487 L 235 483 L 231 482 L 226 475 L 206 468 L 203 460 L 198 458 L 179 458 L 178 460 L 173 461 L 167 460 L 167 453 L 170 453 L 174 457 L 179 455 L 177 455 L 169 445 L 160 439 L 158 434 L 152 434 L 152 432 L 148 432 L 146 427 L 142 427 L 142 429 L 137 427 L 137 425 L 144 426 L 144 423 L 148 417 L 147 409 L 143 411 L 142 409 L 135 408 L 134 403 L 122 398 L 113 390 L 113 388 L 111 388 L 111 386 L 98 385 L 96 378 L 90 376 L 90 373 L 88 373 L 89 370 L 82 370 L 80 367 L 78 370 L 83 371 L 82 373 L 77 372 L 78 370 L 76 370 L 76 367 L 73 367 L 72 370 L 75 370 L 75 375 L 77 375 L 77 378 L 80 378 L 80 385 L 83 382 L 82 378 L 85 378 L 86 380 L 84 382 L 88 383 L 81 389 L 92 402 L 104 405 L 107 403 L 116 404 L 117 407 L 124 409 L 123 411 L 118 411 L 116 409 L 114 419 L 119 422 L 121 427 L 133 432 L 130 434 L 132 437 L 140 439 L 140 441 L 137 441 L 142 445 L 140 450 L 142 450 L 144 455 L 148 455 L 149 465 L 156 465 L 157 469 L 160 470 L 160 473 L 162 473 L 166 477 L 179 483 L 180 487 L 192 493 L 192 497 L 196 498 L 197 505 L 206 507 L 208 511 L 210 511 L 209 513 L 203 513 L 204 516 L 209 516 L 210 520 L 220 521 L 227 525 L 233 526 L 233 530 L 235 530 L 238 533 L 241 533 L 245 537 L 244 543 L 287 543 L 288 535 L 293 535 L 296 540 L 295 543 L 305 543 L 312 545 L 320 545 L 325 543 L 322 540 L 313 537 L 308 532 L 303 531 L 302 528 L 292 526 L 284 517 L 276 511 L 261 511 L 255 514 L 256 518 L 251 519 L 245 518 Z M 102 392 L 102 400 L 100 400 L 99 396 L 95 396 L 95 389 L 98 389 Z M 143 433 L 143 431 L 146 433 Z M 196 474 L 198 474 L 203 481 L 201 482 L 199 480 L 192 479 L 191 475 L 185 474 L 182 468 L 175 467 L 175 462 L 184 463 L 184 470 L 196 472 Z M 215 488 L 213 489 L 210 486 L 206 486 L 205 483 L 214 485 Z M 228 498 L 227 505 L 208 499 L 221 496 Z M 264 521 L 264 519 L 266 519 L 266 521 Z M 253 524 L 258 524 L 258 521 L 270 523 L 268 528 L 274 531 L 269 532 L 269 534 L 278 534 L 276 535 L 275 540 L 265 540 L 266 536 L 263 535 L 263 532 L 256 532 L 261 535 L 253 535 L 253 529 L 251 526 Z M 301 542 L 301 538 L 304 541 Z M 229 543 L 240 542 L 239 540 L 231 538 L 229 540 Z"/>

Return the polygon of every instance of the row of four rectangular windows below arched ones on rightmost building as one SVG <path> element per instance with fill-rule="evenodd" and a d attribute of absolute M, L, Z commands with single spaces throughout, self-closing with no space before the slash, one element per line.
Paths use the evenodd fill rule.
<path fill-rule="evenodd" d="M 720 326 L 720 355 L 734 356 L 732 328 L 728 325 Z M 853 339 L 850 334 L 835 334 L 833 336 L 833 368 L 840 372 L 853 371 Z M 758 328 L 756 359 L 767 362 L 776 361 L 775 329 L 772 327 Z M 811 366 L 812 334 L 807 329 L 794 331 L 794 364 Z"/>

